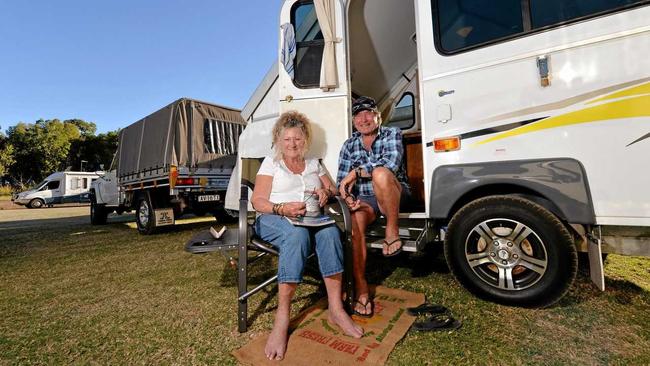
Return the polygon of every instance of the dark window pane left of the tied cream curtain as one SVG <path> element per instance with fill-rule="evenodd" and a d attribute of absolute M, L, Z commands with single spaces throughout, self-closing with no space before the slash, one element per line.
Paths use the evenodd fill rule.
<path fill-rule="evenodd" d="M 291 24 L 296 36 L 293 82 L 301 88 L 320 85 L 320 68 L 325 41 L 312 1 L 299 1 L 291 9 Z"/>

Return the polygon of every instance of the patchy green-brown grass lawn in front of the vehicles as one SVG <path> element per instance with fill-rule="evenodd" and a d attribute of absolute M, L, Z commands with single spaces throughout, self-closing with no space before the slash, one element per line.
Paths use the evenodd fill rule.
<path fill-rule="evenodd" d="M 250 331 L 238 334 L 227 258 L 183 251 L 205 219 L 140 236 L 125 220 L 1 218 L 0 364 L 236 364 L 230 352 L 272 325 L 274 291 L 252 298 Z M 273 272 L 262 262 L 257 280 Z M 463 321 L 454 333 L 410 331 L 389 364 L 650 364 L 650 259 L 612 255 L 605 292 L 579 277 L 541 310 L 472 296 L 436 251 L 371 256 L 369 268 L 371 281 L 424 293 Z M 322 295 L 314 281 L 299 286 L 293 310 Z"/>

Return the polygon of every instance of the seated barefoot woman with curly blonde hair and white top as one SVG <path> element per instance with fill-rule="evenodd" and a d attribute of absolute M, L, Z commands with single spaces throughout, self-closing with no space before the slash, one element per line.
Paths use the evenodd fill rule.
<path fill-rule="evenodd" d="M 341 283 L 343 250 L 334 225 L 306 228 L 293 226 L 283 216 L 306 214 L 305 200 L 318 197 L 322 207 L 336 192 L 331 179 L 316 159 L 305 159 L 311 142 L 310 122 L 295 111 L 283 113 L 273 127 L 274 157 L 267 157 L 257 173 L 251 202 L 259 216 L 257 235 L 280 249 L 278 311 L 264 352 L 269 360 L 281 360 L 287 348 L 291 299 L 307 256 L 315 241 L 318 264 L 329 302 L 328 319 L 349 336 L 360 338 L 363 329 L 343 308 Z"/>

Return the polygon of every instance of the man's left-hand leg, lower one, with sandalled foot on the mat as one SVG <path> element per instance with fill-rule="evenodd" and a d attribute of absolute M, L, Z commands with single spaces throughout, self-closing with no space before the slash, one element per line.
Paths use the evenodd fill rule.
<path fill-rule="evenodd" d="M 356 296 L 354 310 L 359 314 L 372 312 L 368 282 L 366 281 L 366 228 L 374 220 L 375 212 L 366 203 L 362 203 L 361 208 L 352 212 L 352 272 Z"/>

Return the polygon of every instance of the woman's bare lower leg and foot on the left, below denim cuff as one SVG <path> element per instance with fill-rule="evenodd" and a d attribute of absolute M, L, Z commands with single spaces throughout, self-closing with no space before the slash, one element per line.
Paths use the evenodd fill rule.
<path fill-rule="evenodd" d="M 280 283 L 278 285 L 278 311 L 275 313 L 273 330 L 264 347 L 264 354 L 269 360 L 283 359 L 287 350 L 291 299 L 296 292 L 296 287 L 298 287 L 297 283 Z"/>

